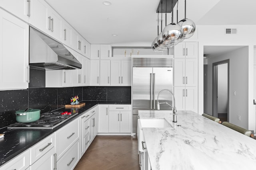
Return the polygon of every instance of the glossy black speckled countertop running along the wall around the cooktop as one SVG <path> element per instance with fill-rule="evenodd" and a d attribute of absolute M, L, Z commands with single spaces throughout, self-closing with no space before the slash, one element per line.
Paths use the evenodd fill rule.
<path fill-rule="evenodd" d="M 40 142 L 42 139 L 48 137 L 54 131 L 60 129 L 70 121 L 76 119 L 81 113 L 84 113 L 88 109 L 92 108 L 97 104 L 130 104 L 123 103 L 120 101 L 82 101 L 86 105 L 80 109 L 73 109 L 62 107 L 57 109 L 58 111 L 70 111 L 72 113 L 78 113 L 72 116 L 68 121 L 62 123 L 54 129 L 1 129 L 0 133 L 4 133 L 4 138 L 0 139 L 0 166 L 18 154 L 24 152 L 28 148 L 32 147 L 36 143 Z"/>

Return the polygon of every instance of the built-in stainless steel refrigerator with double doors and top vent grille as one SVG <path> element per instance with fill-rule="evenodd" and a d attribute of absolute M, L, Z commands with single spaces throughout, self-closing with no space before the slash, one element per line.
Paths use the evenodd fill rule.
<path fill-rule="evenodd" d="M 132 133 L 137 133 L 138 110 L 156 110 L 157 96 L 162 89 L 173 90 L 172 58 L 132 59 Z M 172 95 L 163 91 L 159 102 L 172 105 Z M 172 110 L 161 104 L 160 110 Z"/>

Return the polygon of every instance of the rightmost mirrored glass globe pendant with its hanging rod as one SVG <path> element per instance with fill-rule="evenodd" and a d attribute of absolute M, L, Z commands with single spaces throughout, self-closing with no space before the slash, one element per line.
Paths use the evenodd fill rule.
<path fill-rule="evenodd" d="M 183 39 L 187 39 L 192 37 L 196 31 L 196 24 L 192 21 L 186 18 L 186 0 L 185 0 L 185 18 L 178 22 L 178 25 L 182 27 L 182 30 L 184 32 Z"/>

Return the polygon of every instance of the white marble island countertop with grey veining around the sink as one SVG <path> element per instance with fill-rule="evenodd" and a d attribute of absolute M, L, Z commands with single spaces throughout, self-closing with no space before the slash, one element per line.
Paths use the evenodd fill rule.
<path fill-rule="evenodd" d="M 173 127 L 142 128 L 152 170 L 255 170 L 256 140 L 192 111 L 138 111 Z M 180 125 L 180 126 L 177 126 Z"/>

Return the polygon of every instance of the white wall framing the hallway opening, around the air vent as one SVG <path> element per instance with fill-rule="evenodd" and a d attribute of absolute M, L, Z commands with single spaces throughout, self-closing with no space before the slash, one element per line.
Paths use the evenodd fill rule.
<path fill-rule="evenodd" d="M 248 46 L 248 65 L 242 68 L 248 76 L 247 94 L 248 98 L 244 100 L 248 102 L 246 112 L 247 123 L 243 125 L 246 129 L 256 129 L 255 106 L 253 105 L 253 63 L 254 63 L 254 45 L 256 45 L 256 34 L 252 30 L 256 29 L 256 25 L 196 25 L 198 29 L 198 113 L 202 114 L 204 109 L 204 76 L 203 76 L 203 55 L 204 45 L 243 45 Z M 225 28 L 236 28 L 236 35 L 225 35 Z M 240 83 L 241 84 L 241 83 Z M 233 107 L 233 106 L 230 106 Z M 246 117 L 246 116 L 245 116 Z M 247 124 L 247 127 L 246 127 Z"/>

